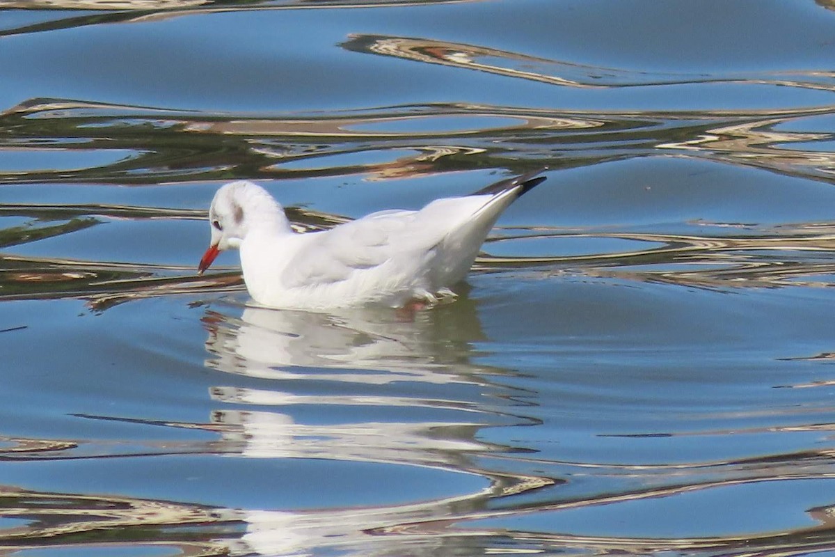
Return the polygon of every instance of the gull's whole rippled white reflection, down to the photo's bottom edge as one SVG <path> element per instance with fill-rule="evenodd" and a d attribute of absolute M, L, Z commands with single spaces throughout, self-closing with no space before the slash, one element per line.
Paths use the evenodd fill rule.
<path fill-rule="evenodd" d="M 240 318 L 207 311 L 204 322 L 208 367 L 268 380 L 252 387 L 230 376 L 237 384 L 210 389 L 214 400 L 230 405 L 212 415 L 230 451 L 246 458 L 394 464 L 405 467 L 403 482 L 413 466 L 485 479 L 470 493 L 403 504 L 245 511 L 246 533 L 231 548 L 236 553 L 291 554 L 337 544 L 377 554 L 394 540 L 369 536 L 373 530 L 445 523 L 483 512 L 490 499 L 554 484 L 497 469 L 487 457 L 513 449 L 478 439 L 485 427 L 531 421 L 510 414 L 513 390 L 487 378 L 510 372 L 473 362 L 473 344 L 486 338 L 466 295 L 409 320 L 387 308 L 315 313 L 246 306 Z M 321 422 L 298 415 L 305 405 L 316 406 Z M 442 538 L 427 550 L 438 549 Z"/>

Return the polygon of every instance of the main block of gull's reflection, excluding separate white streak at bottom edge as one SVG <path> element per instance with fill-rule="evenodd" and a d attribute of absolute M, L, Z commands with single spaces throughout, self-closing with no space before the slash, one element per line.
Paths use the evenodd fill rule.
<path fill-rule="evenodd" d="M 204 322 L 208 367 L 275 381 L 253 387 L 231 380 L 210 389 L 213 399 L 236 407 L 216 410 L 212 422 L 232 450 L 247 456 L 482 473 L 467 455 L 506 448 L 478 441 L 478 429 L 529 423 L 509 415 L 513 391 L 485 377 L 509 372 L 472 362 L 473 342 L 484 335 L 466 296 L 410 321 L 382 308 L 316 313 L 246 306 L 240 319 L 208 311 Z M 329 423 L 298 423 L 293 409 L 305 405 L 315 405 Z M 352 408 L 347 419 L 345 408 Z"/>

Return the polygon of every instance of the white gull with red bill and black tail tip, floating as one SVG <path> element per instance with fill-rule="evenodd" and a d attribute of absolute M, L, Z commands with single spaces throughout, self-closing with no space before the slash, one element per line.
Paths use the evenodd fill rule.
<path fill-rule="evenodd" d="M 240 250 L 246 289 L 264 306 L 327 309 L 367 304 L 433 304 L 454 296 L 478 250 L 508 205 L 545 180 L 545 169 L 502 180 L 471 195 L 434 200 L 421 210 L 383 210 L 299 234 L 260 185 L 217 190 L 203 273 L 220 251 Z"/>

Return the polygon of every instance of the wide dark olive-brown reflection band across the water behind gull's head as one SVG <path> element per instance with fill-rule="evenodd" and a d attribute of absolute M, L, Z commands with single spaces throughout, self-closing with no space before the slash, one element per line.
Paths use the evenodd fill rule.
<path fill-rule="evenodd" d="M 484 161 L 519 172 L 543 163 L 571 168 L 671 154 L 830 182 L 832 134 L 790 128 L 833 112 L 832 106 L 603 113 L 432 104 L 253 117 L 31 99 L 0 114 L 9 130 L 0 140 L 0 183 L 392 179 Z M 71 165 L 60 158 L 67 153 L 76 155 Z M 22 155 L 28 155 L 23 166 Z M 35 155 L 40 162 L 30 162 Z M 357 155 L 370 162 L 343 162 Z M 85 159 L 89 166 L 76 166 Z"/>

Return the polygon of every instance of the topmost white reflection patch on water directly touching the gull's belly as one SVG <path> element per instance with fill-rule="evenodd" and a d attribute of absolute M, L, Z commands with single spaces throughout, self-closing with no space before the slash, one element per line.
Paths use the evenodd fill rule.
<path fill-rule="evenodd" d="M 462 311 L 456 311 L 452 322 L 438 327 L 420 313 L 413 316 L 414 321 L 398 321 L 391 311 L 327 314 L 248 306 L 237 327 L 222 322 L 210 325 L 206 348 L 214 357 L 206 365 L 272 379 L 480 383 L 472 374 L 487 369 L 458 362 L 461 352 L 468 351 L 468 342 L 482 337 L 478 320 L 474 311 L 468 314 L 465 304 L 457 309 Z M 449 342 L 444 341 L 448 329 L 454 330 Z M 339 371 L 306 369 L 310 367 Z"/>

